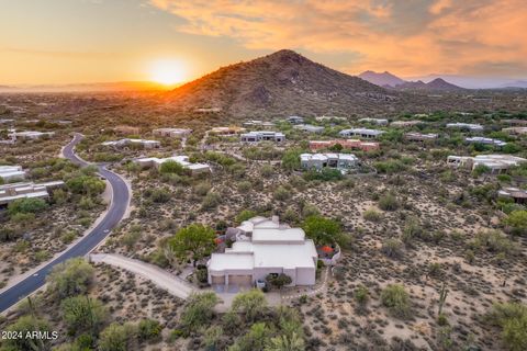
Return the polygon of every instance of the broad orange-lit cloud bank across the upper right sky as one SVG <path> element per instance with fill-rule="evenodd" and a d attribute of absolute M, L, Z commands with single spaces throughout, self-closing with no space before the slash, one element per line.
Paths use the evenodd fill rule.
<path fill-rule="evenodd" d="M 354 53 L 350 72 L 526 76 L 525 0 L 150 0 L 179 31 L 247 48 Z M 358 57 L 358 58 L 357 58 Z"/>

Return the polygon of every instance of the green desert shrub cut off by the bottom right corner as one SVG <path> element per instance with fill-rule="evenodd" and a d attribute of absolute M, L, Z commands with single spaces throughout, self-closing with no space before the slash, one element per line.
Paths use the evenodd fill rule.
<path fill-rule="evenodd" d="M 486 315 L 486 319 L 502 329 L 502 340 L 508 350 L 527 350 L 526 305 L 518 303 L 495 304 Z"/>

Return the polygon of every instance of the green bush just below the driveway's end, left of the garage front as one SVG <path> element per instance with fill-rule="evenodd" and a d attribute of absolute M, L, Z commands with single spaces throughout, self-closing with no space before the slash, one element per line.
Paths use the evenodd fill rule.
<path fill-rule="evenodd" d="M 213 292 L 192 294 L 181 314 L 181 325 L 187 331 L 197 330 L 214 317 L 214 306 L 220 298 Z"/>

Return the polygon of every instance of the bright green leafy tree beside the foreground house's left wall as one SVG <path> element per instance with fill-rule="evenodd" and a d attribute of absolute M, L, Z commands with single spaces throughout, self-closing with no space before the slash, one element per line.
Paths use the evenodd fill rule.
<path fill-rule="evenodd" d="M 214 229 L 201 224 L 191 224 L 181 228 L 169 240 L 169 245 L 180 259 L 192 258 L 192 264 L 212 253 L 216 248 Z"/>

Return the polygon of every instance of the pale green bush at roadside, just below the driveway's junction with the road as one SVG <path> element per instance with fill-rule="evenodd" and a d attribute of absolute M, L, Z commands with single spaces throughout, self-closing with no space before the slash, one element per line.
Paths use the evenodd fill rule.
<path fill-rule="evenodd" d="M 57 264 L 47 276 L 48 290 L 60 298 L 86 294 L 93 282 L 94 270 L 82 258 Z"/>

